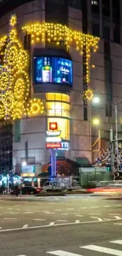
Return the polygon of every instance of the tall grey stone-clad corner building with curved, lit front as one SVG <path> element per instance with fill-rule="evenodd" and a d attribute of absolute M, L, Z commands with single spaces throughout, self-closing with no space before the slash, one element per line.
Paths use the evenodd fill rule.
<path fill-rule="evenodd" d="M 46 131 L 51 122 L 61 130 L 57 157 L 65 156 L 83 165 L 91 163 L 98 157 L 98 147 L 107 147 L 110 124 L 115 122 L 114 104 L 121 101 L 122 2 L 1 0 L 0 36 L 7 34 L 9 17 L 14 13 L 20 40 L 30 57 L 30 95 L 46 101 L 46 114 L 21 118 L 13 125 L 13 169 L 22 165 L 29 170 L 30 165 L 40 169 L 50 161 Z M 89 43 L 93 47 L 87 48 Z M 83 98 L 88 89 L 100 102 Z M 122 105 L 118 110 L 122 136 Z M 92 124 L 94 118 L 100 120 L 100 124 L 94 122 L 97 126 Z M 98 145 L 92 147 L 98 135 Z M 6 144 L 6 138 L 2 140 Z"/>

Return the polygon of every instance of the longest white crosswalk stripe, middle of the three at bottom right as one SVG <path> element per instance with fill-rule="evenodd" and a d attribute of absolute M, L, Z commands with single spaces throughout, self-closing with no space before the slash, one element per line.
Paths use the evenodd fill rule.
<path fill-rule="evenodd" d="M 87 245 L 85 247 L 80 247 L 83 249 L 88 249 L 88 250 L 94 250 L 94 251 L 98 251 L 98 252 L 102 252 L 105 254 L 112 254 L 112 255 L 116 255 L 116 256 L 122 256 L 122 251 L 121 250 L 114 250 L 114 249 L 110 249 L 110 248 L 106 248 L 106 247 L 98 247 L 95 245 Z"/>

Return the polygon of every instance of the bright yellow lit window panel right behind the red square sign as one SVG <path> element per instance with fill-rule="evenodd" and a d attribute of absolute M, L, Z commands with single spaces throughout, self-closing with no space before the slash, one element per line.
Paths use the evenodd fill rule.
<path fill-rule="evenodd" d="M 57 122 L 57 129 L 61 131 L 61 139 L 69 140 L 69 120 L 65 118 L 47 118 L 47 130 L 50 122 Z"/>

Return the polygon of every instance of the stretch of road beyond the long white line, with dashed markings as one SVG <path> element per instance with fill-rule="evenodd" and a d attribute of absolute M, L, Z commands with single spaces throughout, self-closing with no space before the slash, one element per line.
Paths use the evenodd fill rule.
<path fill-rule="evenodd" d="M 57 200 L 56 200 L 57 199 Z M 53 201 L 0 199 L 0 232 L 72 224 L 119 221 L 122 203 L 102 198 L 54 198 Z"/>

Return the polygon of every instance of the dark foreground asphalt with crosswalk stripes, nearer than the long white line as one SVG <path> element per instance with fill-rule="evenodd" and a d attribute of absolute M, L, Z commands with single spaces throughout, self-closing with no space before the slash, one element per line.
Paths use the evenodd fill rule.
<path fill-rule="evenodd" d="M 109 222 L 2 233 L 0 238 L 3 256 L 122 255 L 121 230 Z"/>

